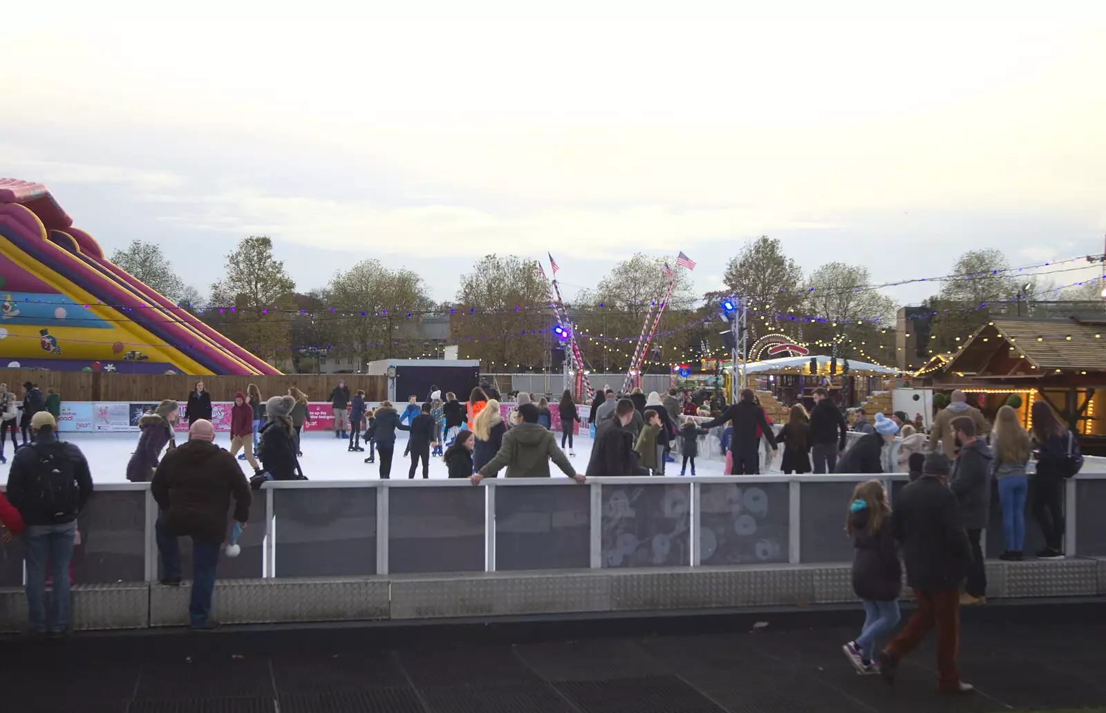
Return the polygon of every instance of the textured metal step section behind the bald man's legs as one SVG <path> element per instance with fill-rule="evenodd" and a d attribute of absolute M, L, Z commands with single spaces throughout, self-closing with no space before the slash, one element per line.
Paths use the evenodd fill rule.
<path fill-rule="evenodd" d="M 149 626 L 188 626 L 190 583 L 149 588 Z M 388 580 L 377 577 L 227 579 L 216 583 L 211 616 L 222 623 L 364 621 L 389 616 Z"/>

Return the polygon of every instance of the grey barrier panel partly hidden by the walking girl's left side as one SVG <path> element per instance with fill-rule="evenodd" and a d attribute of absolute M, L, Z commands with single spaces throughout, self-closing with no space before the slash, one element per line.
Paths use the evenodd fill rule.
<path fill-rule="evenodd" d="M 853 562 L 845 515 L 856 483 L 804 482 L 800 485 L 799 557 L 802 563 Z"/>

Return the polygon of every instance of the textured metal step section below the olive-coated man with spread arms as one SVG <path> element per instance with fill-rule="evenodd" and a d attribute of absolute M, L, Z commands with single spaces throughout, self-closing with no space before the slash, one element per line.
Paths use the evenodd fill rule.
<path fill-rule="evenodd" d="M 609 610 L 611 578 L 591 570 L 410 575 L 392 579 L 393 619 Z"/>

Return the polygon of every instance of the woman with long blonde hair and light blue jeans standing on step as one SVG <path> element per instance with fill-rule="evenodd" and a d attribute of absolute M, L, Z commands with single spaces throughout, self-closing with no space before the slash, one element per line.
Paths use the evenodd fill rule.
<path fill-rule="evenodd" d="M 1030 461 L 1030 434 L 1018 420 L 1018 411 L 1009 406 L 999 409 L 991 429 L 991 474 L 999 483 L 1002 505 L 1002 532 L 1006 551 L 999 559 L 1020 560 L 1025 549 L 1025 500 L 1030 481 L 1025 464 Z"/>

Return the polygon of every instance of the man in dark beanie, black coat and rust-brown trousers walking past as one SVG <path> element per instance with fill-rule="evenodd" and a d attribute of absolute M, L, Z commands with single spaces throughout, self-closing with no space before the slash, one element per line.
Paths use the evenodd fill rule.
<path fill-rule="evenodd" d="M 895 497 L 891 529 L 902 548 L 907 586 L 918 609 L 879 653 L 879 673 L 895 682 L 899 662 L 937 629 L 938 690 L 968 693 L 960 680 L 960 583 L 968 574 L 971 546 L 956 494 L 945 484 L 949 460 L 940 452 L 926 455 L 922 475 Z"/>

